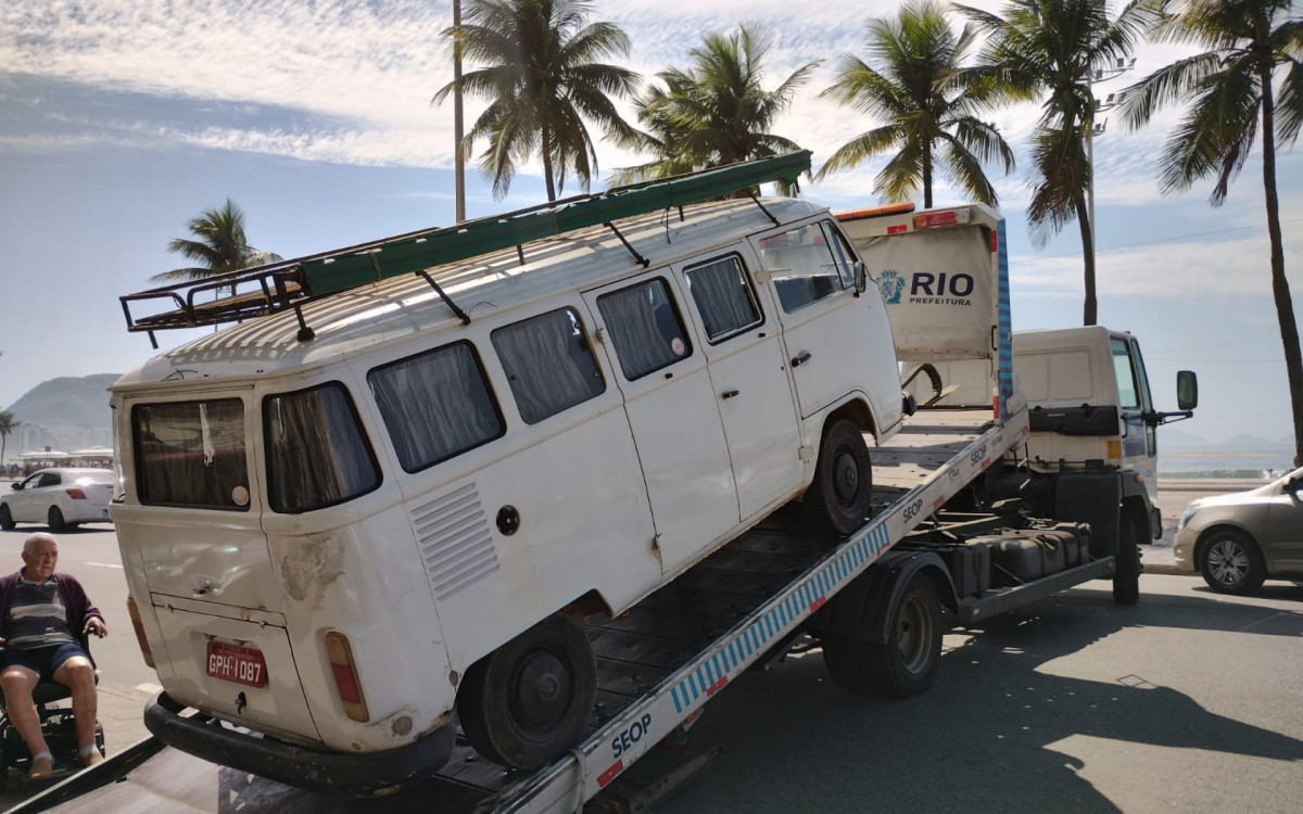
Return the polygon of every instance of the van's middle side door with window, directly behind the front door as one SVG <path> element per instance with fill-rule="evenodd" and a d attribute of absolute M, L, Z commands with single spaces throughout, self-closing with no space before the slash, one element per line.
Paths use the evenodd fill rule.
<path fill-rule="evenodd" d="M 680 274 L 710 362 L 745 520 L 804 483 L 799 417 L 774 306 L 762 301 L 737 254 Z"/>

